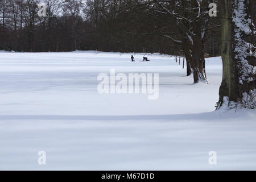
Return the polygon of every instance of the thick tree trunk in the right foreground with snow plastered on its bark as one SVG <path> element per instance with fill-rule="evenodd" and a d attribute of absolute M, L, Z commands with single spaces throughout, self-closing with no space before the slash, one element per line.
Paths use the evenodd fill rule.
<path fill-rule="evenodd" d="M 250 0 L 255 1 L 255 0 Z M 222 31 L 222 106 L 255 107 L 255 27 L 249 0 L 219 0 Z M 254 53 L 253 53 L 254 52 Z"/>

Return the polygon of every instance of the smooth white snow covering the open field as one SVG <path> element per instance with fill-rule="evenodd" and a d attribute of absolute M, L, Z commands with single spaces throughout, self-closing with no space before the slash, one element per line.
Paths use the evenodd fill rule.
<path fill-rule="evenodd" d="M 130 56 L 0 52 L 0 169 L 256 169 L 255 110 L 214 111 L 220 57 L 207 59 L 209 84 L 193 85 L 173 57 Z M 159 99 L 99 94 L 98 74 L 113 68 L 159 73 Z"/>

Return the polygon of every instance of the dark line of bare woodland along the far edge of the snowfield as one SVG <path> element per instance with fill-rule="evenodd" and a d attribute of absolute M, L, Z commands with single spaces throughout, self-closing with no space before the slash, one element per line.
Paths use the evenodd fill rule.
<path fill-rule="evenodd" d="M 166 37 L 159 34 L 167 28 L 179 32 L 179 23 L 171 16 L 157 13 L 151 7 L 152 1 L 44 0 L 46 17 L 38 16 L 39 2 L 42 1 L 0 0 L 0 49 L 184 54 L 180 45 L 168 40 L 168 34 Z M 163 28 L 165 23 L 170 26 Z M 220 41 L 212 38 L 205 52 L 220 55 Z"/>

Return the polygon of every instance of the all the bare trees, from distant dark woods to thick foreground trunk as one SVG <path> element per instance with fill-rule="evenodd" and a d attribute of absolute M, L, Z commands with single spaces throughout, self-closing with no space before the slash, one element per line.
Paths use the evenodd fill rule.
<path fill-rule="evenodd" d="M 45 17 L 38 16 L 39 2 L 46 4 Z M 195 83 L 207 82 L 205 53 L 219 56 L 222 51 L 224 78 L 217 106 L 226 97 L 229 103 L 245 103 L 247 97 L 255 105 L 255 2 L 0 0 L 0 49 L 179 55 Z M 209 16 L 210 3 L 218 4 L 217 17 Z"/>

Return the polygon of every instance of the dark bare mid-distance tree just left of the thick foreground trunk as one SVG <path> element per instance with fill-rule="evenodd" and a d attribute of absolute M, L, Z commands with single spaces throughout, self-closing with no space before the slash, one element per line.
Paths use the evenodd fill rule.
<path fill-rule="evenodd" d="M 203 2 L 199 0 L 154 0 L 151 4 L 154 11 L 166 15 L 166 17 L 176 22 L 175 27 L 178 28 L 179 33 L 172 31 L 170 28 L 170 30 L 163 32 L 162 35 L 173 42 L 181 44 L 187 64 L 192 69 L 195 83 L 200 81 L 207 82 L 204 42 L 209 22 L 208 5 L 209 1 L 207 0 Z"/>

